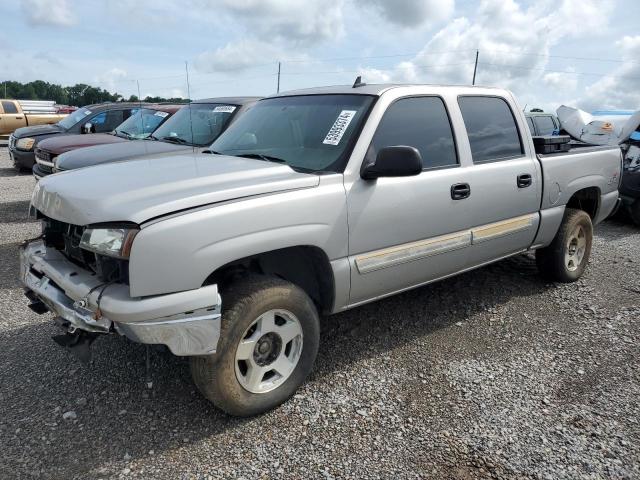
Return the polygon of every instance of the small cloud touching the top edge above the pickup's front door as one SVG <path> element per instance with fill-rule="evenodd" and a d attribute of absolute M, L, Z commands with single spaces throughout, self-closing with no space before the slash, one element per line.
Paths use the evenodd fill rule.
<path fill-rule="evenodd" d="M 446 20 L 453 15 L 455 2 L 454 0 L 371 0 L 368 6 L 374 7 L 391 23 L 402 27 L 417 27 Z"/>

